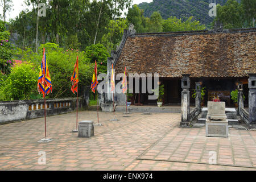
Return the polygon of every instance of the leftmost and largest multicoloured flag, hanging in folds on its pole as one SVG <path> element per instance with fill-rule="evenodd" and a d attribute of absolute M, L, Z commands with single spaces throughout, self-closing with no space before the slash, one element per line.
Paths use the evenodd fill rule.
<path fill-rule="evenodd" d="M 39 78 L 38 78 L 38 92 L 39 94 L 40 92 L 42 92 L 43 98 L 46 96 L 46 94 L 49 94 L 49 92 L 52 92 L 52 82 L 51 82 L 51 77 L 49 75 L 48 65 L 46 61 L 45 48 L 43 52 L 43 59 L 42 59 L 41 69 L 40 69 Z"/>

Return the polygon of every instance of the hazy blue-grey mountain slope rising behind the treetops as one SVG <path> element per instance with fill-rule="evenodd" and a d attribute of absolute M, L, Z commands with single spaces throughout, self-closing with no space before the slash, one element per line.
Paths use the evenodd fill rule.
<path fill-rule="evenodd" d="M 228 0 L 216 0 L 217 4 L 224 5 Z M 144 16 L 150 17 L 154 11 L 159 11 L 163 19 L 170 16 L 184 18 L 194 16 L 202 24 L 209 24 L 214 17 L 210 17 L 209 3 L 211 0 L 153 0 L 151 3 L 140 3 L 139 9 L 144 10 Z M 214 1 L 213 1 L 214 2 Z"/>

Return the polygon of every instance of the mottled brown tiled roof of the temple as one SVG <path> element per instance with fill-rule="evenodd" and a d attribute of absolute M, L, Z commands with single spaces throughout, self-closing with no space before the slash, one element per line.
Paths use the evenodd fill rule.
<path fill-rule="evenodd" d="M 128 35 L 115 73 L 160 77 L 247 77 L 256 73 L 256 28 Z"/>

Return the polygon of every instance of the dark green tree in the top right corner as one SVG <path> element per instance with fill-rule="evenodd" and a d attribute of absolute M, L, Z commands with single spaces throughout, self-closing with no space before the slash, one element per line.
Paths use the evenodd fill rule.
<path fill-rule="evenodd" d="M 256 17 L 256 2 L 255 0 L 242 0 L 242 8 L 245 13 L 245 20 L 249 27 L 254 27 Z"/>

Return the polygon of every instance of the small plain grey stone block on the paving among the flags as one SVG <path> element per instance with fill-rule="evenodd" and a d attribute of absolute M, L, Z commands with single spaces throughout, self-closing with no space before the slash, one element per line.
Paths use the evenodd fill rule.
<path fill-rule="evenodd" d="M 78 137 L 93 137 L 94 136 L 94 126 L 93 121 L 80 121 Z"/>

